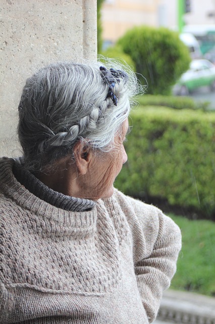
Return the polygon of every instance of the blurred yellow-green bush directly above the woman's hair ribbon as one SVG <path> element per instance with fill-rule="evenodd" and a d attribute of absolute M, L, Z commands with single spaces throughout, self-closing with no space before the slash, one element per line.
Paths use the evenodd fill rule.
<path fill-rule="evenodd" d="M 101 52 L 101 55 L 104 57 L 109 57 L 113 59 L 117 59 L 122 64 L 128 64 L 133 71 L 135 71 L 135 64 L 134 61 L 131 59 L 131 57 L 128 54 L 125 54 L 120 46 L 114 46 L 106 49 L 105 51 Z M 100 55 L 98 55 L 99 61 L 102 62 L 102 58 Z M 105 63 L 105 59 L 104 59 Z"/>

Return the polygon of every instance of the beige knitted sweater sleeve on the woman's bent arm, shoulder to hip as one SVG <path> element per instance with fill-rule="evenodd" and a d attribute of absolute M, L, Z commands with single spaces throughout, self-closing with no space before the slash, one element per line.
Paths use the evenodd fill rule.
<path fill-rule="evenodd" d="M 152 322 L 163 291 L 169 288 L 176 272 L 181 231 L 156 207 L 125 197 L 121 206 L 131 228 L 137 286 L 148 320 Z"/>

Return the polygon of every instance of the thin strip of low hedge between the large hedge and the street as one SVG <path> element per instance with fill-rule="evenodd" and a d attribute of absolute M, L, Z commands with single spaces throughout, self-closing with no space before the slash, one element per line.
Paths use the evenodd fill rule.
<path fill-rule="evenodd" d="M 195 102 L 190 97 L 160 96 L 160 95 L 143 95 L 136 100 L 141 106 L 165 106 L 174 109 L 202 109 L 207 110 L 208 102 Z"/>

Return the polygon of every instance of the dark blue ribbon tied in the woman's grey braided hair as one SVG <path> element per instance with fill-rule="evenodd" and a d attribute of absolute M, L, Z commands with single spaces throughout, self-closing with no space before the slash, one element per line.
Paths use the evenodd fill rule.
<path fill-rule="evenodd" d="M 114 94 L 114 87 L 116 85 L 116 82 L 120 83 L 120 79 L 128 79 L 127 73 L 121 70 L 115 70 L 111 68 L 110 70 L 107 70 L 104 66 L 100 66 L 100 71 L 102 73 L 102 79 L 105 83 L 109 84 L 109 91 L 106 98 L 111 98 L 113 100 L 113 103 L 115 106 L 117 106 L 117 97 Z"/>

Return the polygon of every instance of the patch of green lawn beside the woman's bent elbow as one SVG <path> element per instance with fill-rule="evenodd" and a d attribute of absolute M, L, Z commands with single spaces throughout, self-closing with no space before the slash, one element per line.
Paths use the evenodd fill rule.
<path fill-rule="evenodd" d="M 170 215 L 182 231 L 171 288 L 215 296 L 215 223 Z"/>

